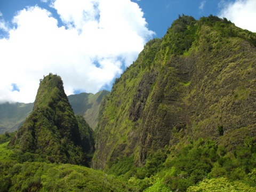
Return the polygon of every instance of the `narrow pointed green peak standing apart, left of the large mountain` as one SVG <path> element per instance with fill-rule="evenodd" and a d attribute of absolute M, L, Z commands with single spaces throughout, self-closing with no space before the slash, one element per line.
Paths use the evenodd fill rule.
<path fill-rule="evenodd" d="M 77 119 L 59 76 L 49 74 L 44 77 L 32 113 L 9 146 L 19 149 L 17 155 L 22 161 L 32 158 L 57 163 L 88 163 L 85 162 Z"/>

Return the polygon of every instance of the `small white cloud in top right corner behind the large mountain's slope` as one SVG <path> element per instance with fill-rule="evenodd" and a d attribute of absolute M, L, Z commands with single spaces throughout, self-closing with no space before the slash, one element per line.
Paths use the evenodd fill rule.
<path fill-rule="evenodd" d="M 235 23 L 237 27 L 256 32 L 256 1 L 236 0 L 235 2 L 221 1 L 219 4 L 221 11 L 220 18 L 227 18 Z"/>

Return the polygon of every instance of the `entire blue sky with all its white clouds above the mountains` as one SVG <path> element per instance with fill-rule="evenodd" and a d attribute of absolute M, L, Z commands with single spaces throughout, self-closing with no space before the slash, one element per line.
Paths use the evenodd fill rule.
<path fill-rule="evenodd" d="M 110 91 L 182 14 L 256 32 L 255 0 L 0 0 L 0 103 L 34 102 L 49 73 L 67 95 Z"/>

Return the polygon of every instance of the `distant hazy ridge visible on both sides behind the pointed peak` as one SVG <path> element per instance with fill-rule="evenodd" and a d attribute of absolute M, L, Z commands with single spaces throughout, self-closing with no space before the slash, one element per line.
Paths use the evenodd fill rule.
<path fill-rule="evenodd" d="M 108 91 L 96 94 L 80 93 L 69 95 L 68 100 L 75 115 L 82 115 L 90 127 L 95 130 L 98 123 L 100 102 Z M 0 134 L 19 129 L 33 109 L 34 103 L 3 103 L 0 105 Z"/>

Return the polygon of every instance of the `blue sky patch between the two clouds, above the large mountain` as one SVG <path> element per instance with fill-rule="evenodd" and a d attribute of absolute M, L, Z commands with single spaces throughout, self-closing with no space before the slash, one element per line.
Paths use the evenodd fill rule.
<path fill-rule="evenodd" d="M 178 18 L 178 15 L 191 15 L 195 19 L 210 14 L 217 15 L 220 1 L 210 0 L 133 0 L 139 4 L 145 14 L 148 28 L 156 32 L 157 37 L 165 35 L 168 27 Z"/>

